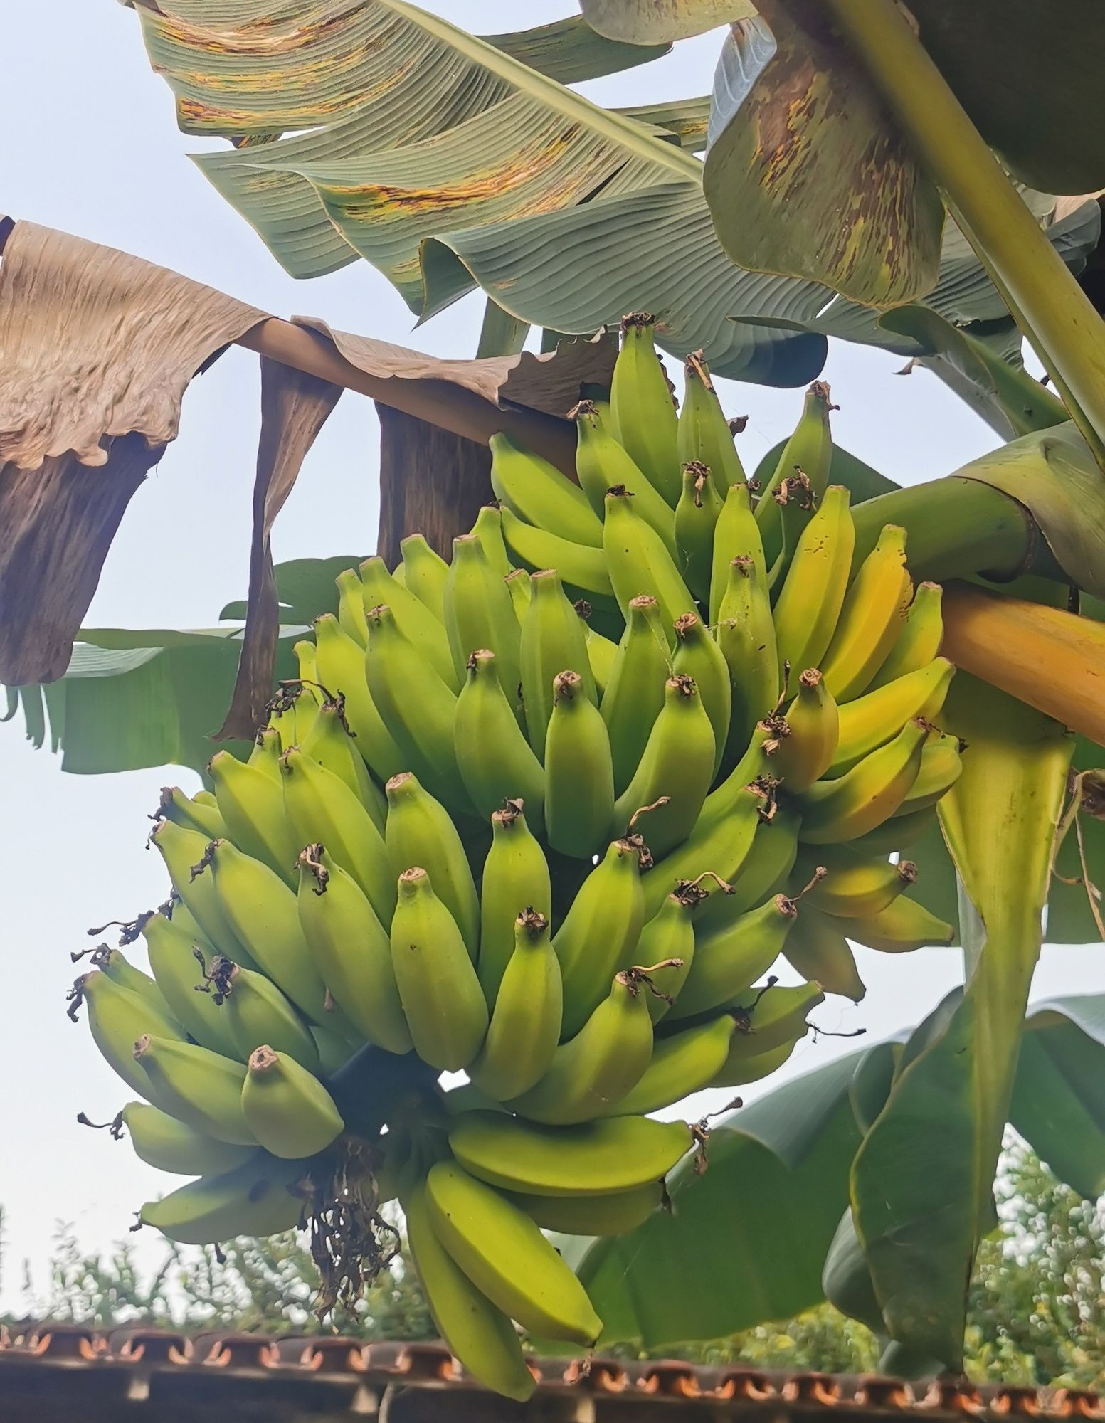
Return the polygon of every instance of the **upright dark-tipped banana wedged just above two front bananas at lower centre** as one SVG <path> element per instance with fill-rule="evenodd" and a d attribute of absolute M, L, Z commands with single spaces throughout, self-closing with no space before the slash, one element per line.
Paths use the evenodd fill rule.
<path fill-rule="evenodd" d="M 521 801 L 508 801 L 491 814 L 491 848 L 480 881 L 480 958 L 476 970 L 488 1007 L 514 953 L 514 925 L 533 909 L 544 919 L 552 914 L 545 852 L 534 838 Z"/>

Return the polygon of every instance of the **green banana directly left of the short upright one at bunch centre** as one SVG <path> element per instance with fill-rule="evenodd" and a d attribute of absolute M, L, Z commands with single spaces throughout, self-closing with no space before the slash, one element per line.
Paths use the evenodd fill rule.
<path fill-rule="evenodd" d="M 545 773 L 518 727 L 496 673 L 496 655 L 487 647 L 468 657 L 468 679 L 457 697 L 453 744 L 464 788 L 481 820 L 504 800 L 524 800 L 534 828 L 543 830 Z"/>

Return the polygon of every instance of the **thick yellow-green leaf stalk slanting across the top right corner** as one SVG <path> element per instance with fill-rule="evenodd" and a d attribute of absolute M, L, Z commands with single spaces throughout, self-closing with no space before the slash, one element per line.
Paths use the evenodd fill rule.
<path fill-rule="evenodd" d="M 830 0 L 964 235 L 1105 468 L 1105 327 L 896 0 Z"/>

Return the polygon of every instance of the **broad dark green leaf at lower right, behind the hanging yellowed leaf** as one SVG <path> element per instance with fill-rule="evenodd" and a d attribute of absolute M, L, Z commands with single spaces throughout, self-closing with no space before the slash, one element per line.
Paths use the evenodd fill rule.
<path fill-rule="evenodd" d="M 955 990 L 934 1016 L 951 1016 L 961 998 Z M 896 1063 L 930 1033 L 926 1023 L 837 1057 L 728 1113 L 713 1128 L 706 1173 L 688 1164 L 674 1174 L 674 1215 L 614 1239 L 560 1239 L 607 1322 L 604 1342 L 659 1350 L 721 1339 L 819 1303 L 826 1285 L 847 1313 L 883 1329 L 854 1234 L 849 1241 L 842 1161 L 883 1111 Z M 1024 1043 L 1010 1121 L 1092 1198 L 1105 1184 L 1105 995 L 1035 1005 Z M 1032 1093 L 1037 1054 L 1061 1063 L 1047 1099 Z M 940 1180 L 947 1147 L 938 1118 L 928 1126 L 937 1136 L 923 1171 Z M 1067 1140 L 1075 1126 L 1077 1141 Z"/>

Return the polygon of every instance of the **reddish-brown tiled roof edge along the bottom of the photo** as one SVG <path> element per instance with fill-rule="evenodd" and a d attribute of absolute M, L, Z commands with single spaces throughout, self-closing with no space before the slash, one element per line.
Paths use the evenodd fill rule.
<path fill-rule="evenodd" d="M 362 1343 L 342 1338 L 209 1333 L 158 1329 L 95 1331 L 27 1323 L 0 1329 L 0 1420 L 44 1423 L 63 1413 L 85 1419 L 263 1416 L 373 1417 L 419 1423 L 456 1419 L 534 1419 L 617 1423 L 654 1409 L 765 1420 L 834 1410 L 856 1419 L 891 1414 L 971 1419 L 1089 1419 L 1105 1423 L 1095 1393 L 963 1380 L 846 1376 L 681 1362 L 533 1359 L 538 1387 L 527 1405 L 481 1389 L 437 1343 Z"/>

